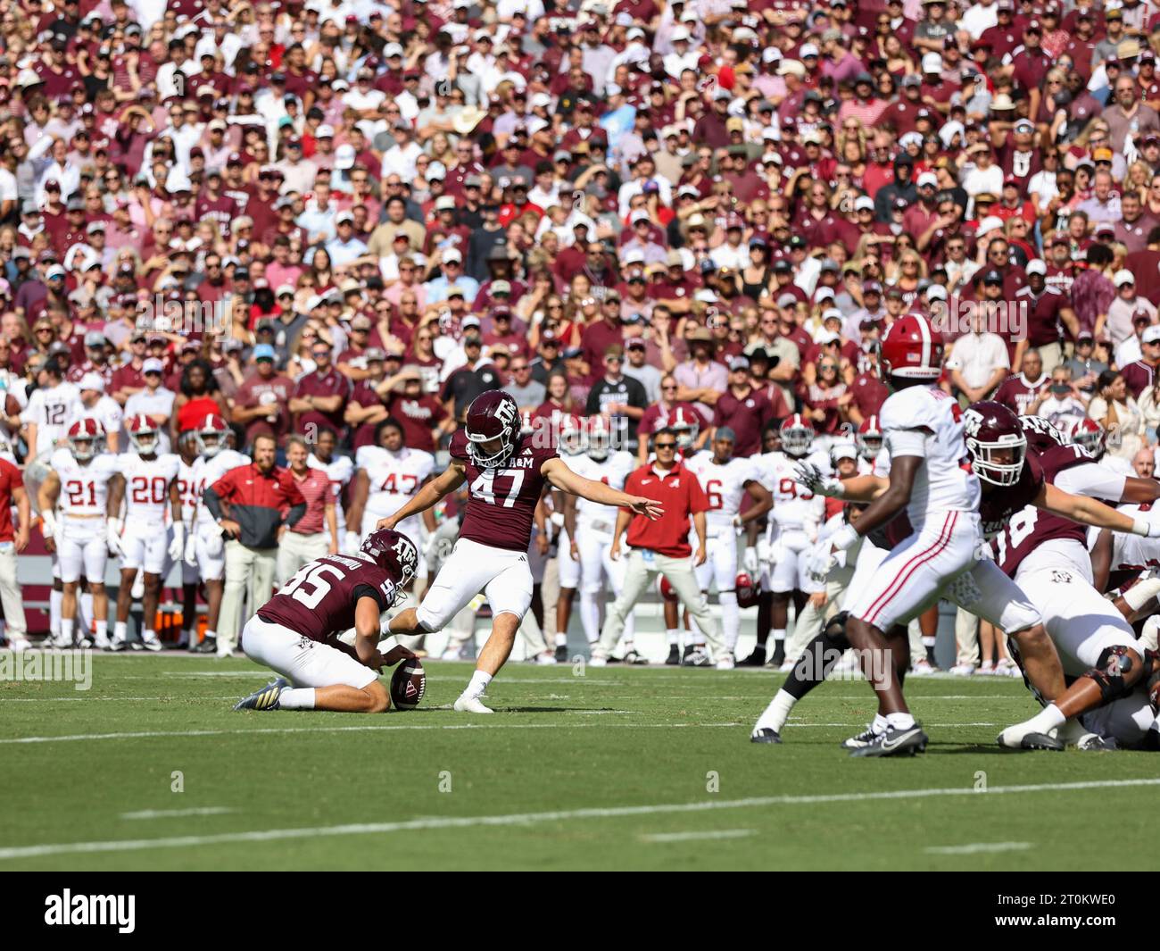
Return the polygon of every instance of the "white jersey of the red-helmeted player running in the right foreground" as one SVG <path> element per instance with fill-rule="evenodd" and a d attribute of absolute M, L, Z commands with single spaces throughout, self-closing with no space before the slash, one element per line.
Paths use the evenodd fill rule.
<path fill-rule="evenodd" d="M 906 506 L 915 531 L 935 513 L 979 510 L 983 493 L 966 461 L 962 415 L 958 402 L 937 387 L 907 387 L 882 404 L 878 423 L 892 459 L 906 453 L 911 433 L 922 439 L 923 462 Z"/>

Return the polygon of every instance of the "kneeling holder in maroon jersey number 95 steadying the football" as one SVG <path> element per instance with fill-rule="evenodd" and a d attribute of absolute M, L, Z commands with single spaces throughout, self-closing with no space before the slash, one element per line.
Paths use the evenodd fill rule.
<path fill-rule="evenodd" d="M 401 646 L 379 653 L 380 617 L 418 568 L 414 542 L 386 529 L 371 532 L 354 556 L 304 564 L 242 628 L 246 656 L 278 677 L 234 709 L 387 709 L 378 671 L 415 655 Z M 339 640 L 351 627 L 354 646 Z"/>

